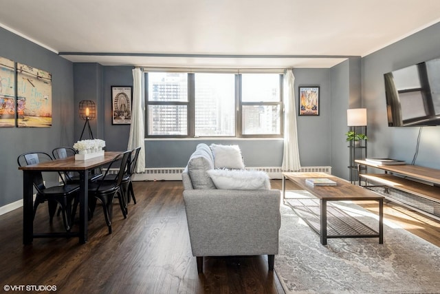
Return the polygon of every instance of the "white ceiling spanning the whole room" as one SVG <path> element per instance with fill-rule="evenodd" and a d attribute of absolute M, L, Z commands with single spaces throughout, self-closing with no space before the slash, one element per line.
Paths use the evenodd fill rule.
<path fill-rule="evenodd" d="M 0 0 L 1 27 L 102 65 L 331 67 L 438 21 L 439 0 Z"/>

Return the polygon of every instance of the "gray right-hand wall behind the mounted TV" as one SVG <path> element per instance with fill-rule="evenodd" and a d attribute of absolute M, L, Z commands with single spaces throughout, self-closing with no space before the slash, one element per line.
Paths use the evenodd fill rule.
<path fill-rule="evenodd" d="M 419 127 L 388 127 L 384 74 L 440 56 L 440 23 L 362 59 L 362 99 L 367 108 L 369 156 L 412 162 Z M 440 126 L 423 127 L 416 165 L 440 168 Z"/>

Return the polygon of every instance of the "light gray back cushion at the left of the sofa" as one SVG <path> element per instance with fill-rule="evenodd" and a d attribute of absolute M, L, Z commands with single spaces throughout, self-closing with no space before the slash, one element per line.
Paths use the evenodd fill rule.
<path fill-rule="evenodd" d="M 214 168 L 214 158 L 210 147 L 206 144 L 197 145 L 188 161 L 188 174 L 194 189 L 216 189 L 207 171 Z"/>

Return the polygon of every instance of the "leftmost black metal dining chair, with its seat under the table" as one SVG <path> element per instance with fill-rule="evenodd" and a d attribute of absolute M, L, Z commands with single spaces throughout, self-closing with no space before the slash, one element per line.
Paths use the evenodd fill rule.
<path fill-rule="evenodd" d="M 19 167 L 25 166 L 25 165 L 35 165 L 39 162 L 45 162 L 52 160 L 52 157 L 45 153 L 45 152 L 28 152 L 25 154 L 21 154 L 17 158 L 17 162 L 19 164 Z M 61 177 L 63 180 L 63 177 L 60 173 L 58 173 L 58 176 Z M 50 223 L 52 224 L 52 221 L 54 219 L 54 215 L 56 213 L 56 207 L 61 207 L 61 213 L 63 213 L 63 223 L 66 231 L 70 231 L 72 228 L 72 201 L 76 200 L 78 201 L 78 192 L 79 192 L 79 185 L 76 184 L 67 184 L 63 180 L 63 184 L 54 185 L 52 187 L 46 187 L 45 185 L 45 179 L 43 179 L 43 174 L 41 171 L 35 171 L 34 177 L 33 177 L 33 184 L 36 189 L 36 198 L 34 201 L 34 215 L 36 213 L 37 207 L 39 207 L 39 204 L 44 203 L 47 201 L 49 206 L 49 218 Z"/>

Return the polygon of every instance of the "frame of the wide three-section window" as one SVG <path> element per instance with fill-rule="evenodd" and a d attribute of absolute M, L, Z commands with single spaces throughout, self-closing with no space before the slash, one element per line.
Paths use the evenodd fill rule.
<path fill-rule="evenodd" d="M 184 72 L 188 75 L 188 101 L 148 101 L 148 73 L 149 72 Z M 148 124 L 148 106 L 149 105 L 186 105 L 187 107 L 187 134 L 186 135 L 148 135 L 148 125 L 145 127 L 145 138 L 283 138 L 284 130 L 284 97 L 283 97 L 283 76 L 284 74 L 277 71 L 252 71 L 239 72 L 230 71 L 235 74 L 235 136 L 195 136 L 195 73 L 207 72 L 206 70 L 145 70 L 144 72 L 144 101 L 145 101 L 145 121 Z M 224 71 L 210 70 L 212 73 L 225 73 Z M 272 102 L 243 102 L 242 101 L 242 81 L 241 74 L 278 74 L 280 78 L 280 100 Z M 280 107 L 280 132 L 279 134 L 243 134 L 243 106 L 245 105 L 263 105 Z"/>

